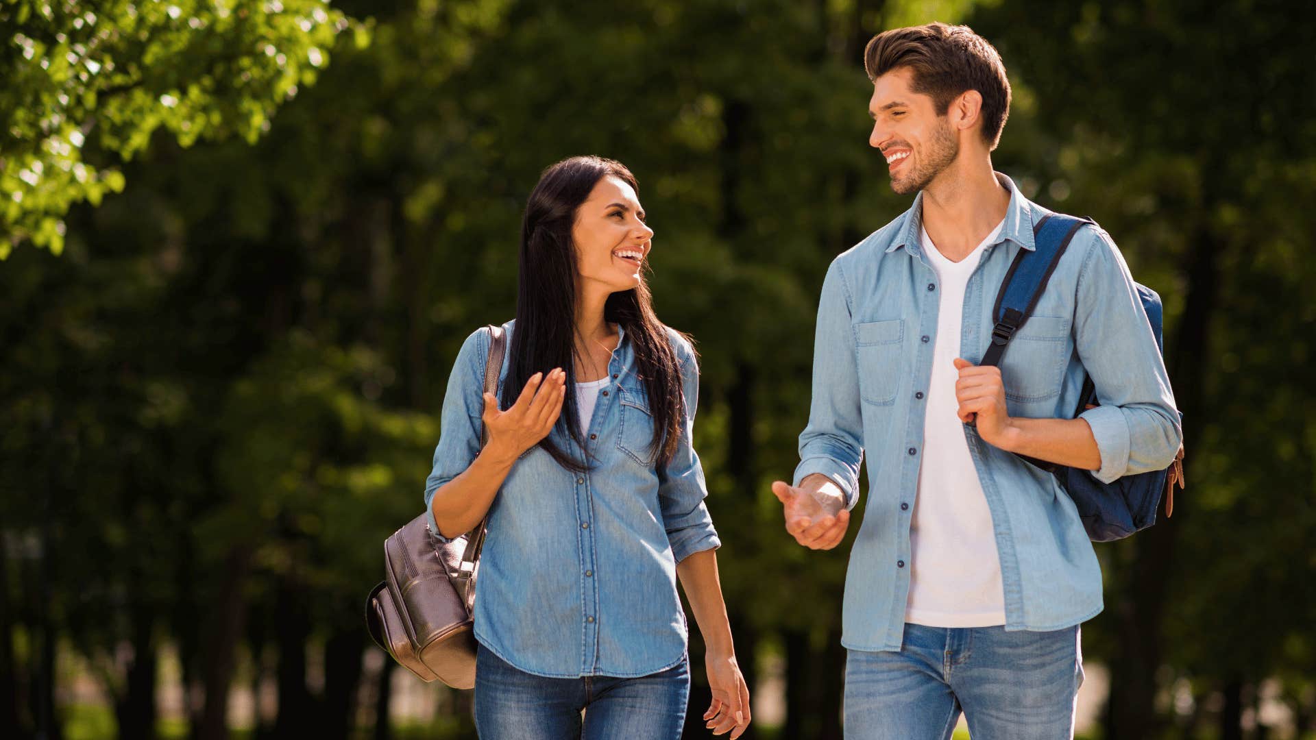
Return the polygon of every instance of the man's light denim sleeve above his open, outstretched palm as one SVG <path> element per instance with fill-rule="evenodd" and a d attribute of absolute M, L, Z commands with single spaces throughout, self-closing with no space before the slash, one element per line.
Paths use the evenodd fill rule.
<path fill-rule="evenodd" d="M 863 462 L 863 415 L 859 406 L 859 366 L 854 356 L 850 292 L 838 262 L 822 280 L 813 340 L 813 400 L 809 424 L 800 433 L 800 463 L 795 485 L 821 473 L 836 481 L 846 508 L 859 502 Z"/>

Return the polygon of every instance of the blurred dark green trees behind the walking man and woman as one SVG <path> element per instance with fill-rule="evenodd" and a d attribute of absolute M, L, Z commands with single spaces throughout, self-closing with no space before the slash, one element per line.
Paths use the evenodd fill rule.
<path fill-rule="evenodd" d="M 1316 12 L 1267 0 L 4 0 L 0 735 L 472 737 L 362 602 L 530 187 L 592 153 L 699 342 L 746 737 L 840 737 L 849 542 L 769 482 L 826 265 L 908 207 L 862 47 L 929 20 L 1004 57 L 996 169 L 1166 302 L 1188 490 L 1096 546 L 1080 733 L 1316 737 Z"/>

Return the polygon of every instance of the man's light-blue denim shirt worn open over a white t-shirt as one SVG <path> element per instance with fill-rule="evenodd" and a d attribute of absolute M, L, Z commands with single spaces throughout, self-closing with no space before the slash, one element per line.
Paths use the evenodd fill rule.
<path fill-rule="evenodd" d="M 1020 249 L 1034 249 L 1045 211 L 1009 178 L 1009 209 L 965 290 L 961 356 L 978 363 L 992 308 Z M 845 647 L 898 650 L 909 595 L 909 523 L 923 454 L 941 288 L 920 249 L 923 195 L 913 207 L 828 270 L 813 349 L 813 402 L 800 435 L 795 482 L 833 478 L 858 502 L 869 453 L 869 502 L 845 581 Z M 1170 379 L 1133 279 L 1111 237 L 1083 226 L 1061 258 L 1033 316 L 1001 361 L 1011 416 L 1069 419 L 1083 383 L 1101 406 L 1082 415 L 1101 453 L 1096 478 L 1166 467 L 1182 431 Z M 1050 473 L 965 427 L 987 495 L 1005 590 L 1005 629 L 1059 629 L 1101 611 L 1101 571 L 1074 503 Z"/>

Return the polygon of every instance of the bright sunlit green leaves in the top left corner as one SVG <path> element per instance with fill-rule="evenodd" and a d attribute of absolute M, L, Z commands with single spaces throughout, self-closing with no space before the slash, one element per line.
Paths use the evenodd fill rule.
<path fill-rule="evenodd" d="M 158 128 L 255 141 L 349 28 L 322 0 L 5 0 L 0 258 L 25 240 L 58 254 L 68 208 L 122 191 L 114 159 Z"/>

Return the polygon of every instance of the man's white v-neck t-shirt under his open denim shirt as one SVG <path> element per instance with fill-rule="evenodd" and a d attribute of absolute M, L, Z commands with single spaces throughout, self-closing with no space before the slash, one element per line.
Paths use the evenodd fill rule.
<path fill-rule="evenodd" d="M 991 510 L 969 454 L 963 423 L 955 411 L 965 287 L 987 245 L 1004 221 L 959 262 L 937 251 L 923 232 L 923 253 L 940 280 L 937 342 L 923 427 L 919 494 L 909 527 L 912 552 L 905 621 L 928 627 L 995 627 L 1005 624 L 1005 591 L 1000 579 Z"/>

